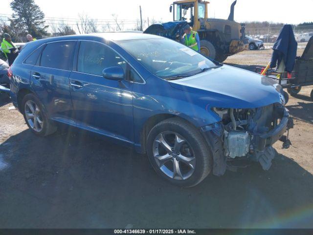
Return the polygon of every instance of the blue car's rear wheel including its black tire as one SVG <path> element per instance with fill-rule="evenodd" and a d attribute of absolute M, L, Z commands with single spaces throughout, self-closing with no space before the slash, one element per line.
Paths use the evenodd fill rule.
<path fill-rule="evenodd" d="M 38 136 L 47 136 L 57 128 L 47 118 L 45 107 L 34 94 L 26 94 L 22 99 L 22 113 L 28 128 Z"/>

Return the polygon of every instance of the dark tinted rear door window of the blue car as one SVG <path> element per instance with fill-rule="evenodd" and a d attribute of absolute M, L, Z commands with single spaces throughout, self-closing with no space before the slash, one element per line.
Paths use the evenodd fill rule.
<path fill-rule="evenodd" d="M 47 44 L 41 56 L 40 66 L 71 71 L 75 46 L 75 41 Z"/>

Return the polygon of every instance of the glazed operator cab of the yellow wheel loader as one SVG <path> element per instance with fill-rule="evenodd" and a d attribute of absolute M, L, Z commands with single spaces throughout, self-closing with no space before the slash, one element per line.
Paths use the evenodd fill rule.
<path fill-rule="evenodd" d="M 207 19 L 207 1 L 180 0 L 170 6 L 174 21 L 187 21 L 195 31 L 200 29 L 200 21 Z"/>

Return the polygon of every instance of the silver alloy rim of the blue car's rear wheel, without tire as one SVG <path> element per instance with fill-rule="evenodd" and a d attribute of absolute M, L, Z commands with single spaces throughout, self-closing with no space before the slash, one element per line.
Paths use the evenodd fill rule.
<path fill-rule="evenodd" d="M 25 117 L 29 126 L 34 131 L 41 132 L 44 126 L 44 120 L 42 118 L 38 105 L 32 100 L 28 100 L 25 103 L 24 110 Z"/>

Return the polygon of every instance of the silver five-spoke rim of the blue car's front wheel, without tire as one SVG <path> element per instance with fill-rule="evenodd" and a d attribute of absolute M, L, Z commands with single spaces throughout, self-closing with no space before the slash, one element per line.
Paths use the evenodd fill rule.
<path fill-rule="evenodd" d="M 186 180 L 195 171 L 196 158 L 190 144 L 172 131 L 158 134 L 153 142 L 153 156 L 159 169 L 175 180 Z"/>

